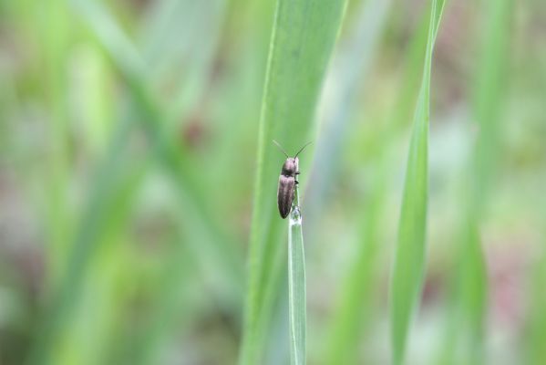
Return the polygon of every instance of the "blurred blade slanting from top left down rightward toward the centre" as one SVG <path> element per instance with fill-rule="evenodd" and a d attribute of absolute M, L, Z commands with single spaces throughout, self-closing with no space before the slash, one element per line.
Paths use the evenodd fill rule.
<path fill-rule="evenodd" d="M 231 237 L 224 234 L 221 224 L 213 219 L 214 214 L 206 208 L 210 206 L 205 203 L 207 193 L 199 182 L 199 171 L 188 157 L 185 146 L 180 145 L 180 139 L 172 139 L 175 133 L 168 132 L 172 120 L 160 108 L 158 99 L 150 91 L 144 62 L 104 5 L 81 0 L 73 0 L 73 5 L 127 80 L 156 158 L 169 173 L 177 196 L 183 201 L 180 205 L 184 206 L 188 214 L 195 216 L 197 224 L 191 227 L 206 237 L 194 247 L 201 251 L 199 257 L 209 263 L 205 266 L 225 270 L 222 277 L 232 287 L 233 297 L 239 297 L 242 293 L 241 257 Z"/>

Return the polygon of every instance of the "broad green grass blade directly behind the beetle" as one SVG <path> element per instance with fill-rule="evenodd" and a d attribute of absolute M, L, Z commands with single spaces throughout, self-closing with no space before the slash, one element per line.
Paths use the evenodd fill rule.
<path fill-rule="evenodd" d="M 344 9 L 345 0 L 277 1 L 258 137 L 241 364 L 262 362 L 263 341 L 282 274 L 283 226 L 273 199 L 282 155 L 272 140 L 289 151 L 307 141 Z M 310 155 L 307 153 L 307 159 Z"/>

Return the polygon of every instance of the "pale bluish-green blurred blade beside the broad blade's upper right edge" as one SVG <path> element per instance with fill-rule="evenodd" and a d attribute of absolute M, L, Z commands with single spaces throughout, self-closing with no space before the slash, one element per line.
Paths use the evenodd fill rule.
<path fill-rule="evenodd" d="M 305 187 L 306 234 L 317 231 L 315 224 L 319 224 L 325 197 L 335 184 L 338 162 L 352 120 L 350 117 L 355 110 L 355 99 L 359 88 L 366 83 L 368 71 L 376 57 L 391 0 L 371 0 L 360 6 L 354 29 L 338 47 L 332 70 L 326 78 L 325 89 L 332 89 L 332 92 L 331 95 L 328 93 L 328 98 L 321 100 L 325 104 L 321 105 L 324 110 L 321 133 L 316 142 L 316 158 L 309 179 L 311 183 Z"/>

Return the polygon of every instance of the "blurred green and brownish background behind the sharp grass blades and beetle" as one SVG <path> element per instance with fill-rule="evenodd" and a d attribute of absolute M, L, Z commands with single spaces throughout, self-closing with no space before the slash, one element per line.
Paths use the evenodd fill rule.
<path fill-rule="evenodd" d="M 0 1 L 0 364 L 237 362 L 274 9 Z M 301 156 L 310 364 L 391 359 L 427 25 L 426 1 L 350 1 L 313 135 L 284 145 L 314 141 Z M 408 364 L 468 364 L 477 347 L 479 363 L 545 363 L 545 98 L 546 3 L 447 3 Z M 287 363 L 286 300 L 283 284 L 264 364 Z"/>

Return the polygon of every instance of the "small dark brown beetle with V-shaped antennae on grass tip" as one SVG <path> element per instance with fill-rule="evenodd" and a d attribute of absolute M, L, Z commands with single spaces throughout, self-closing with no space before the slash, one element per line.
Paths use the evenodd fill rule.
<path fill-rule="evenodd" d="M 279 213 L 284 219 L 290 214 L 292 210 L 292 203 L 294 202 L 294 191 L 295 185 L 298 184 L 297 175 L 300 174 L 299 170 L 299 160 L 298 155 L 300 152 L 304 151 L 305 147 L 309 145 L 308 142 L 304 144 L 304 147 L 298 151 L 294 157 L 288 156 L 288 153 L 283 150 L 283 147 L 273 140 L 273 143 L 284 153 L 286 156 L 286 161 L 283 163 L 283 168 L 281 169 L 281 175 L 279 176 L 279 188 L 277 190 L 277 205 L 279 207 Z"/>

